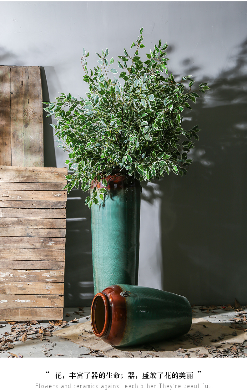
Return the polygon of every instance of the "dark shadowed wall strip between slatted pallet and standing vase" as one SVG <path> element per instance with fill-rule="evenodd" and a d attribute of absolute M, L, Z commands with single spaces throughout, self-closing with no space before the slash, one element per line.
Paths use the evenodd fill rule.
<path fill-rule="evenodd" d="M 64 306 L 91 306 L 94 297 L 91 214 L 85 193 L 73 188 L 67 198 Z"/>

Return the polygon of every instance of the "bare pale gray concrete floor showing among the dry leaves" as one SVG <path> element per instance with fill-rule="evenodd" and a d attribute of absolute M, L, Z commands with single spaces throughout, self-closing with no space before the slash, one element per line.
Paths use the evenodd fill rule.
<path fill-rule="evenodd" d="M 88 320 L 88 316 L 90 315 L 90 308 L 83 308 L 84 313 L 83 316 L 80 316 L 74 312 L 78 312 L 78 308 L 64 308 L 64 321 L 71 321 L 74 318 L 78 319 L 80 323 L 84 323 Z M 70 316 L 66 316 L 69 313 Z M 217 314 L 216 314 L 217 313 Z M 223 310 L 217 309 L 217 312 L 211 310 L 209 313 L 202 312 L 198 306 L 193 307 L 193 317 L 194 318 L 204 318 L 205 320 L 211 323 L 229 323 L 233 321 L 233 318 L 236 317 L 235 310 Z M 41 322 L 41 326 L 50 327 L 51 325 L 46 322 Z M 69 326 L 74 325 L 74 323 L 69 323 Z M 67 327 L 65 327 L 67 328 Z M 56 330 L 60 329 L 59 327 Z M 8 333 L 11 331 L 11 325 L 7 324 L 4 321 L 0 322 L 0 338 L 5 336 L 8 338 Z M 11 338 L 11 336 L 9 336 Z M 25 358 L 44 358 L 45 352 L 51 357 L 56 358 L 81 358 L 91 356 L 88 354 L 90 349 L 85 347 L 79 347 L 78 344 L 73 343 L 64 338 L 60 338 L 57 336 L 49 336 L 46 338 L 47 340 L 38 340 L 38 339 L 27 339 L 25 342 L 17 341 L 14 344 L 13 348 L 10 348 L 9 352 L 13 354 L 21 354 Z M 49 351 L 47 351 L 49 350 Z M 7 358 L 10 354 L 7 351 L 0 351 L 0 358 Z M 244 349 L 244 352 L 247 353 L 247 348 Z"/>

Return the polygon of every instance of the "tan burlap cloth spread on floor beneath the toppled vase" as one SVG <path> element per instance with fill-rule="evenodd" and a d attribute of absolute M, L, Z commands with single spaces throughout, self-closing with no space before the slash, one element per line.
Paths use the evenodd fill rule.
<path fill-rule="evenodd" d="M 62 328 L 53 335 L 60 336 L 87 347 L 92 356 L 143 358 L 152 357 L 212 357 L 244 356 L 240 346 L 247 340 L 247 332 L 231 327 L 230 323 L 211 323 L 204 318 L 193 318 L 188 334 L 169 341 L 147 343 L 138 347 L 113 347 L 96 338 L 91 322 L 78 323 Z M 243 347 L 243 346 L 241 346 Z"/>

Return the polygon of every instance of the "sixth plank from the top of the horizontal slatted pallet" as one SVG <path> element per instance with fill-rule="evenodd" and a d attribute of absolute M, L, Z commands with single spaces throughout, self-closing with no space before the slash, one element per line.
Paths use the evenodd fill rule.
<path fill-rule="evenodd" d="M 25 227 L 27 229 L 65 229 L 66 219 L 49 218 L 1 218 L 0 227 Z"/>

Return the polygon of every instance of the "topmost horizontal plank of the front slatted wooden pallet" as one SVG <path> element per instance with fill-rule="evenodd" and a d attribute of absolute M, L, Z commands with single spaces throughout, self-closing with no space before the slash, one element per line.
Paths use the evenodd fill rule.
<path fill-rule="evenodd" d="M 67 167 L 0 166 L 0 182 L 62 182 Z"/>

